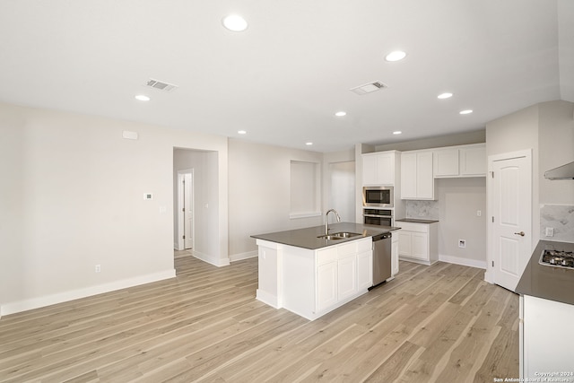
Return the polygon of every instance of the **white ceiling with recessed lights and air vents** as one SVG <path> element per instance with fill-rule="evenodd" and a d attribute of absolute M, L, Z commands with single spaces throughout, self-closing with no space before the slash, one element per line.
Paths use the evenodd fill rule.
<path fill-rule="evenodd" d="M 223 28 L 230 13 L 248 29 Z M 574 101 L 574 2 L 2 0 L 0 84 L 4 102 L 258 143 L 392 144 Z"/>

